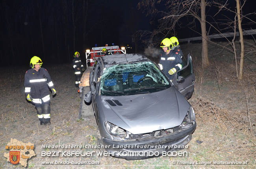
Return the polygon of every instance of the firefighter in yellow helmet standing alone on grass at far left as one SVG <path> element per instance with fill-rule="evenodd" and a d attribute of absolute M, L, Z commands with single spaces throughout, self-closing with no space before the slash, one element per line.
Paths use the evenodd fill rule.
<path fill-rule="evenodd" d="M 42 60 L 33 56 L 30 60 L 30 67 L 25 74 L 24 86 L 26 99 L 35 105 L 40 124 L 50 125 L 50 94 L 56 94 L 48 71 L 41 67 Z"/>

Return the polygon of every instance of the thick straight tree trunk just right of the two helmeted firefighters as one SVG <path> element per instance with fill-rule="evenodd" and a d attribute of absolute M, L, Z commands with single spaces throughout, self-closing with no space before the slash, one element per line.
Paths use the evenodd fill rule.
<path fill-rule="evenodd" d="M 202 67 L 209 66 L 208 59 L 208 37 L 206 35 L 206 16 L 205 16 L 205 0 L 201 0 L 201 31 L 202 31 Z"/>

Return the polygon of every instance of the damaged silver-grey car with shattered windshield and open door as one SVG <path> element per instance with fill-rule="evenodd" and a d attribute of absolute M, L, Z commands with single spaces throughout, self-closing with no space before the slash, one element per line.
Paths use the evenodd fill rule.
<path fill-rule="evenodd" d="M 96 60 L 84 101 L 92 105 L 100 139 L 111 155 L 150 158 L 176 151 L 191 140 L 195 112 L 186 98 L 193 94 L 195 76 L 191 56 L 182 59 L 183 68 L 172 81 L 143 55 Z"/>

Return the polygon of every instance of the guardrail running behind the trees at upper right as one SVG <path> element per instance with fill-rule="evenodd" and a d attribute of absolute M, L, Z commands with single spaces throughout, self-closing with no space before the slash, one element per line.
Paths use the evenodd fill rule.
<path fill-rule="evenodd" d="M 243 35 L 255 35 L 255 34 L 256 34 L 256 29 L 243 31 Z M 211 40 L 211 39 L 233 37 L 233 36 L 234 36 L 234 32 L 227 32 L 227 33 L 222 33 L 222 34 L 209 35 L 208 39 Z M 236 36 L 239 36 L 239 32 L 236 32 Z M 179 39 L 179 42 L 187 42 L 189 44 L 190 41 L 195 41 L 195 40 L 202 40 L 202 36 Z"/>

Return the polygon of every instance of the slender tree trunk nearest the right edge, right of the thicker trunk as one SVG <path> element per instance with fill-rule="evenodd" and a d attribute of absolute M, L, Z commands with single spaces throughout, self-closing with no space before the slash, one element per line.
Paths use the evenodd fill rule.
<path fill-rule="evenodd" d="M 240 58 L 240 68 L 239 68 L 239 79 L 243 79 L 243 56 L 244 56 L 244 45 L 243 45 L 243 30 L 241 24 L 241 16 L 240 16 L 240 3 L 239 0 L 236 0 L 236 8 L 237 8 L 237 20 L 238 20 L 238 29 L 240 35 L 240 45 L 241 45 L 241 58 Z"/>

